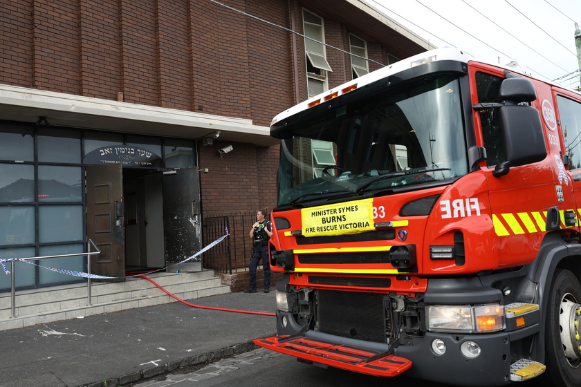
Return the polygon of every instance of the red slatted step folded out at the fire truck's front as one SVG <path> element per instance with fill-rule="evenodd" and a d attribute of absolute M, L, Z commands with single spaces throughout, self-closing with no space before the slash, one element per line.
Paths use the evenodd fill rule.
<path fill-rule="evenodd" d="M 394 377 L 412 366 L 412 361 L 389 352 L 358 348 L 306 337 L 268 337 L 254 341 L 258 346 L 312 361 L 313 363 L 342 368 L 382 377 Z"/>

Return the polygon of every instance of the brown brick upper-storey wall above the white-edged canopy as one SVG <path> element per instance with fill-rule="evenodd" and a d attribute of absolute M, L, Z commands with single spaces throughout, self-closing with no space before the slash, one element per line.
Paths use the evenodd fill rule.
<path fill-rule="evenodd" d="M 309 7 L 299 0 L 223 2 L 299 33 L 302 7 Z M 307 95 L 304 38 L 211 1 L 0 0 L 0 6 L 1 83 L 104 100 L 122 93 L 125 102 L 262 126 Z M 328 44 L 349 50 L 349 26 L 329 18 L 324 26 Z M 385 62 L 385 48 L 368 44 L 369 56 Z M 326 51 L 329 86 L 351 79 L 349 55 Z"/>

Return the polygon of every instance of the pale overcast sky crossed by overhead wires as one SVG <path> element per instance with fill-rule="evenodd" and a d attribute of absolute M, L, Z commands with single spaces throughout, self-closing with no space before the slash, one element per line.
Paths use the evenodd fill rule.
<path fill-rule="evenodd" d="M 437 47 L 453 46 L 490 64 L 516 61 L 519 72 L 580 86 L 580 73 L 570 73 L 580 67 L 581 0 L 364 1 Z"/>

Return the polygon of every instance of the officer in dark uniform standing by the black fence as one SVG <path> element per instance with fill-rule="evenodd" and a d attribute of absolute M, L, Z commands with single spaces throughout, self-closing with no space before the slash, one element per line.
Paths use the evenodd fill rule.
<path fill-rule="evenodd" d="M 273 235 L 273 226 L 266 218 L 266 210 L 260 209 L 256 213 L 256 223 L 250 230 L 252 238 L 252 256 L 250 257 L 250 286 L 245 293 L 256 293 L 256 270 L 262 261 L 264 269 L 264 292 L 270 292 L 270 263 L 268 262 L 268 239 Z"/>

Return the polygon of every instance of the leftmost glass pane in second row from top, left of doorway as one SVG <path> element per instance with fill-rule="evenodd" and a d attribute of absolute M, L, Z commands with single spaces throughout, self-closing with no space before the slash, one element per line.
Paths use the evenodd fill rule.
<path fill-rule="evenodd" d="M 0 202 L 35 201 L 35 167 L 0 164 Z"/>

